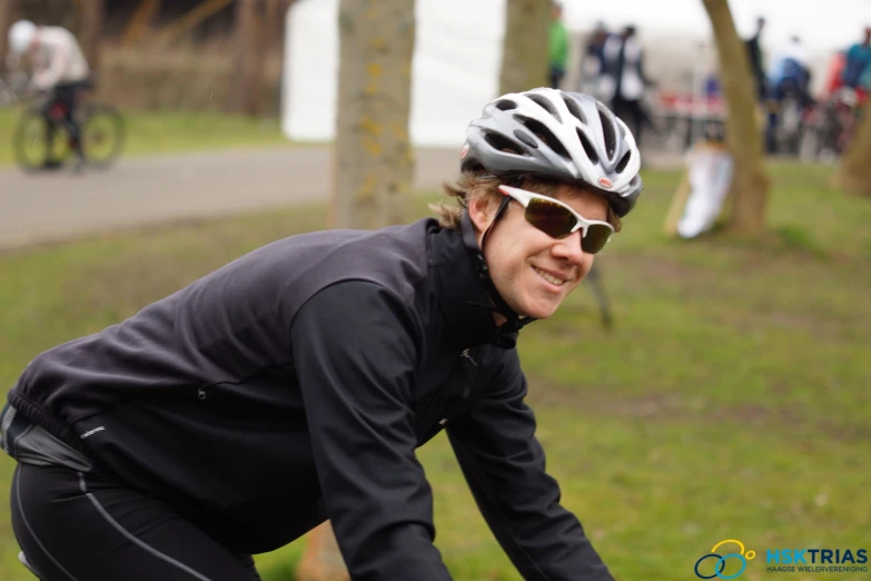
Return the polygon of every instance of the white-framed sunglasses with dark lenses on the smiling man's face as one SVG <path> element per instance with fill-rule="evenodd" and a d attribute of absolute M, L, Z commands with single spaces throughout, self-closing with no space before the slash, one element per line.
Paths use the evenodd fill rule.
<path fill-rule="evenodd" d="M 581 249 L 587 254 L 598 253 L 614 234 L 611 224 L 588 220 L 558 199 L 511 186 L 499 186 L 499 191 L 517 200 L 526 209 L 526 221 L 552 238 L 561 240 L 581 230 Z"/>

